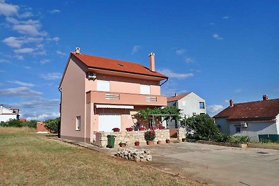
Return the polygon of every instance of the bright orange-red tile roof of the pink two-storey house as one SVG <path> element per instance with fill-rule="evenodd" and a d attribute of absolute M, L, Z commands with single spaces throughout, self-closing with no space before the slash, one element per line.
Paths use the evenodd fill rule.
<path fill-rule="evenodd" d="M 153 77 L 162 77 L 166 79 L 165 75 L 160 74 L 159 72 L 152 72 L 149 68 L 146 68 L 144 65 L 139 63 L 132 63 L 128 61 L 121 61 L 116 59 L 108 59 L 99 56 L 91 56 L 87 54 L 75 54 L 72 52 L 77 59 L 80 59 L 85 65 L 91 68 L 113 70 L 118 72 L 128 72 L 138 75 L 149 75 Z"/>

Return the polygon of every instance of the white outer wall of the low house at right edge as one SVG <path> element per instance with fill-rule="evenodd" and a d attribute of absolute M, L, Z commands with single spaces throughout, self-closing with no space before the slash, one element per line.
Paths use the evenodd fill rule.
<path fill-rule="evenodd" d="M 228 123 L 230 134 L 235 136 L 248 136 L 251 141 L 259 141 L 259 134 L 278 134 L 276 122 L 247 122 L 248 127 L 241 127 L 241 132 L 236 133 L 236 126 L 241 123 Z"/>

